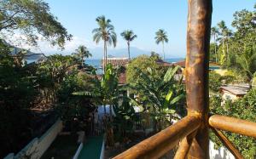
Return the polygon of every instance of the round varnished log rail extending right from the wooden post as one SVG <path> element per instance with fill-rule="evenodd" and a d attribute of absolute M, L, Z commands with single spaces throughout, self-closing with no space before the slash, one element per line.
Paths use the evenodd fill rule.
<path fill-rule="evenodd" d="M 256 122 L 249 122 L 230 116 L 213 115 L 209 118 L 209 125 L 213 128 L 256 138 Z"/>

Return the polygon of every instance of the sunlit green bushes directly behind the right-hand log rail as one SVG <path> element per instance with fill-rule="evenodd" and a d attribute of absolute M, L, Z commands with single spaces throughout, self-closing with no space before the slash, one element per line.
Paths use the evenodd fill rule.
<path fill-rule="evenodd" d="M 210 111 L 213 114 L 220 114 L 224 116 L 234 116 L 251 122 L 256 122 L 256 90 L 251 89 L 243 98 L 237 99 L 234 102 L 230 100 L 225 101 L 221 105 L 221 97 L 212 96 L 210 98 Z M 224 132 L 236 148 L 241 151 L 245 158 L 254 158 L 256 156 L 255 139 L 242 136 L 236 133 Z M 218 146 L 222 145 L 218 139 L 211 133 L 211 139 Z"/>

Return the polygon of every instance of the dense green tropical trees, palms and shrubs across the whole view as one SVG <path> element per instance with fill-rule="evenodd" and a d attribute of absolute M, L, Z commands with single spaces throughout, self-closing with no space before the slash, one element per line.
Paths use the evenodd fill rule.
<path fill-rule="evenodd" d="M 256 8 L 256 6 L 255 6 Z M 125 143 L 131 139 L 136 127 L 143 128 L 145 118 L 153 119 L 157 133 L 186 115 L 183 78 L 176 77 L 179 67 L 166 67 L 159 54 L 154 52 L 131 60 L 124 68 L 103 64 L 103 75 L 85 65 L 91 56 L 88 48 L 81 45 L 71 55 L 53 54 L 34 63 L 27 64 L 27 51 L 12 54 L 9 37 L 22 34 L 25 42 L 38 44 L 38 37 L 59 48 L 71 40 L 71 35 L 61 26 L 44 1 L 9 0 L 0 2 L 0 157 L 10 151 L 17 152 L 33 137 L 44 133 L 56 117 L 61 117 L 65 130 L 76 133 L 84 130 L 90 134 L 97 105 L 105 107 L 103 128 L 107 134 L 107 145 Z M 211 44 L 211 60 L 228 69 L 224 76 L 210 72 L 209 87 L 212 94 L 212 113 L 236 116 L 255 121 L 256 91 L 251 91 L 235 102 L 225 101 L 216 95 L 222 84 L 230 82 L 253 83 L 256 69 L 256 13 L 241 10 L 234 14 L 231 31 L 224 21 L 212 28 L 214 43 Z M 96 18 L 98 27 L 92 31 L 93 41 L 104 44 L 104 60 L 107 60 L 109 45 L 116 46 L 117 36 L 111 20 L 105 16 Z M 128 45 L 137 35 L 131 30 L 121 33 Z M 3 39 L 6 39 L 3 40 Z M 19 41 L 19 39 L 15 39 Z M 156 32 L 156 43 L 168 42 L 166 31 Z M 119 84 L 119 74 L 125 71 L 127 83 Z M 106 112 L 110 106 L 110 115 Z M 113 109 L 112 109 L 113 108 Z M 139 108 L 140 112 L 136 112 Z M 42 115 L 43 114 L 43 115 Z M 46 117 L 45 114 L 47 115 Z M 148 117 L 148 118 L 149 118 Z M 46 120 L 46 118 L 48 118 Z M 147 122 L 147 121 L 146 121 Z M 38 125 L 41 129 L 38 129 Z M 44 126 L 45 125 L 45 126 Z M 255 157 L 255 141 L 238 134 L 225 133 L 247 158 Z M 218 145 L 218 139 L 211 136 Z"/>

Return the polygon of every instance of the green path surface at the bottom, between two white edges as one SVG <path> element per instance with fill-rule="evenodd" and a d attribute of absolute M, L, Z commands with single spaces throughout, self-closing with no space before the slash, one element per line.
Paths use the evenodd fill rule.
<path fill-rule="evenodd" d="M 79 159 L 98 159 L 101 156 L 103 135 L 87 137 Z"/>

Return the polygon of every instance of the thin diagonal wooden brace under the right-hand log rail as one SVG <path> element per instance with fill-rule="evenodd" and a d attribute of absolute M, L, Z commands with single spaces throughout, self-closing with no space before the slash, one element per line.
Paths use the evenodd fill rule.
<path fill-rule="evenodd" d="M 218 139 L 225 145 L 226 148 L 230 150 L 230 152 L 237 158 L 237 159 L 243 159 L 243 156 L 239 152 L 239 150 L 236 149 L 236 146 L 233 145 L 228 139 L 224 133 L 222 133 L 220 130 L 216 128 L 211 128 L 212 132 L 215 133 L 215 135 L 218 137 Z"/>

